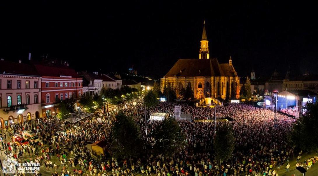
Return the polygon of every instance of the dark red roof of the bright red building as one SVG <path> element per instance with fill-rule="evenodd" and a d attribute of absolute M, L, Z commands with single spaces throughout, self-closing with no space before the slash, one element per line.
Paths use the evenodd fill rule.
<path fill-rule="evenodd" d="M 66 66 L 45 66 L 36 64 L 35 68 L 41 76 L 71 76 L 72 78 L 80 78 L 74 69 Z"/>

